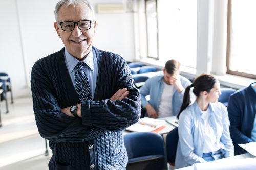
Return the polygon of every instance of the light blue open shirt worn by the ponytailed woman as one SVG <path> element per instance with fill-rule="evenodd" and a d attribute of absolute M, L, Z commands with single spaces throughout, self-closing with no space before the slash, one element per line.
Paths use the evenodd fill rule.
<path fill-rule="evenodd" d="M 224 157 L 234 155 L 234 147 L 229 133 L 229 119 L 227 108 L 220 102 L 209 104 L 209 124 L 214 128 L 216 140 L 220 142 L 220 149 Z M 182 111 L 179 117 L 179 142 L 176 152 L 175 166 L 177 168 L 206 162 L 203 156 L 204 120 L 197 102 Z"/>

